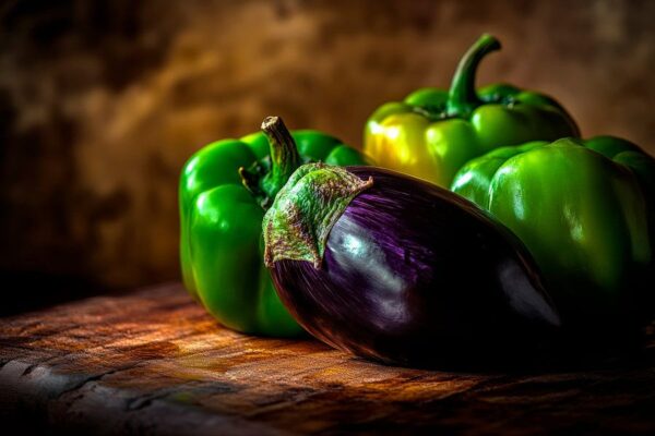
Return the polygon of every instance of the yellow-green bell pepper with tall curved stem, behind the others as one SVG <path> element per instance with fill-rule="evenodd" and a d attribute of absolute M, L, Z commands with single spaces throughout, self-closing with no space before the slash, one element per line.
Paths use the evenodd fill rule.
<path fill-rule="evenodd" d="M 380 107 L 366 124 L 364 152 L 380 167 L 448 187 L 466 161 L 492 148 L 579 136 L 550 97 L 503 84 L 476 92 L 478 63 L 499 49 L 495 37 L 483 35 L 462 58 L 450 90 L 418 89 Z"/>

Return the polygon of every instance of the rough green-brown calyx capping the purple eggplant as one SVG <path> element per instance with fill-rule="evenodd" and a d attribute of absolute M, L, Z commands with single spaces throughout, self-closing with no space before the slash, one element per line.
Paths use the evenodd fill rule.
<path fill-rule="evenodd" d="M 342 167 L 307 164 L 291 174 L 264 215 L 264 263 L 311 262 L 321 268 L 325 242 L 353 198 L 373 184 Z"/>

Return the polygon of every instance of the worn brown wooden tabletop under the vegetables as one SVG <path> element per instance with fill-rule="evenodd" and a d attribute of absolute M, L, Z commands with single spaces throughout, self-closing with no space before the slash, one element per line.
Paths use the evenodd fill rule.
<path fill-rule="evenodd" d="M 653 435 L 654 346 L 651 328 L 643 360 L 580 372 L 390 367 L 229 331 L 165 284 L 1 319 L 0 414 L 80 434 Z"/>

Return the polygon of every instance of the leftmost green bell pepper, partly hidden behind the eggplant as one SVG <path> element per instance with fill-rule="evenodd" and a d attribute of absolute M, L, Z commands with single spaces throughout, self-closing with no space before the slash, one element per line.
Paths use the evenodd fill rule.
<path fill-rule="evenodd" d="M 302 334 L 263 265 L 262 219 L 277 191 L 305 162 L 364 165 L 341 141 L 289 135 L 272 117 L 264 133 L 212 143 L 184 165 L 179 184 L 180 257 L 188 291 L 223 325 L 263 336 Z M 297 144 L 297 147 L 296 147 Z"/>

